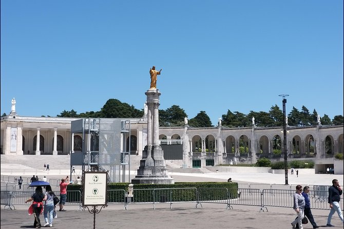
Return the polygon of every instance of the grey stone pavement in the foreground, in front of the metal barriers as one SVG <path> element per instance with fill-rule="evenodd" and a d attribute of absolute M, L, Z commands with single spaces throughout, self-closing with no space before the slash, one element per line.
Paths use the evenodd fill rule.
<path fill-rule="evenodd" d="M 95 214 L 95 228 L 292 228 L 291 222 L 296 214 L 291 208 L 268 207 L 268 212 L 259 212 L 258 206 L 233 205 L 234 209 L 225 209 L 224 204 L 202 204 L 195 208 L 195 203 L 176 203 L 169 209 L 169 204 L 160 204 L 156 209 L 151 204 L 109 205 L 99 214 Z M 53 228 L 93 228 L 93 213 L 77 211 L 77 206 L 65 206 L 66 212 L 58 212 L 53 219 Z M 1 229 L 32 228 L 33 216 L 21 206 L 15 210 L 1 209 Z M 27 206 L 25 207 L 27 208 Z M 98 207 L 100 209 L 100 207 Z M 328 210 L 312 210 L 315 221 L 326 226 Z M 43 215 L 40 217 L 44 221 Z M 342 228 L 338 215 L 332 218 L 334 228 Z M 310 223 L 303 228 L 313 228 Z"/>

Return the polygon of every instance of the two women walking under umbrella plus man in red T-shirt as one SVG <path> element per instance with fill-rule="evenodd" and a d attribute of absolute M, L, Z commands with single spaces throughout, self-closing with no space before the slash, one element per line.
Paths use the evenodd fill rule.
<path fill-rule="evenodd" d="M 33 176 L 34 177 L 34 176 Z M 32 179 L 32 178 L 31 178 Z M 60 212 L 65 212 L 66 210 L 63 208 L 64 204 L 67 200 L 67 186 L 70 184 L 68 176 L 66 178 L 61 179 L 60 183 Z M 32 194 L 32 196 L 25 201 L 32 202 L 32 204 L 29 207 L 29 214 L 33 214 L 34 216 L 34 222 L 33 227 L 34 228 L 41 228 L 41 220 L 40 215 L 44 213 L 44 220 L 45 224 L 43 226 L 50 226 L 52 227 L 52 221 L 53 221 L 53 212 L 56 212 L 56 205 L 54 204 L 54 197 L 55 194 L 52 192 L 51 186 L 47 185 L 45 186 L 46 192 L 43 193 L 42 186 L 37 186 L 35 189 L 35 192 Z M 43 204 L 43 201 L 44 204 Z M 49 217 L 48 217 L 49 215 Z"/>

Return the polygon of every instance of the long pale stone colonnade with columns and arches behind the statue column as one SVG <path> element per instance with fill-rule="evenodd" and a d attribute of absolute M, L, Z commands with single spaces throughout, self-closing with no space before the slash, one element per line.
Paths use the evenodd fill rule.
<path fill-rule="evenodd" d="M 1 154 L 68 155 L 82 151 L 82 135 L 71 133 L 71 121 L 79 118 L 22 117 L 15 111 L 1 118 Z M 142 155 L 147 145 L 147 119 L 130 120 L 130 154 Z M 343 126 L 288 127 L 286 151 L 290 160 L 312 160 L 316 172 L 332 166 L 338 173 L 335 154 L 343 154 Z M 100 130 L 101 131 L 101 130 Z M 130 138 L 130 140 L 129 140 Z M 219 164 L 256 163 L 259 158 L 283 161 L 282 127 L 192 128 L 160 127 L 159 143 L 179 159 L 182 167 L 204 167 Z M 172 148 L 175 145 L 182 147 Z M 336 168 L 337 167 L 337 168 Z"/>

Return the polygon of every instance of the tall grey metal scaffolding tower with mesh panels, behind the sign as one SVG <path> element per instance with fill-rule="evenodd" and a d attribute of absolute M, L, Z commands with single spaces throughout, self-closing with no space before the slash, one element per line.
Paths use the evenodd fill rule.
<path fill-rule="evenodd" d="M 105 170 L 109 182 L 130 181 L 130 120 L 76 120 L 71 123 L 71 135 L 75 133 L 82 134 L 83 144 L 82 152 L 72 152 L 71 166 L 82 165 L 82 176 Z"/>

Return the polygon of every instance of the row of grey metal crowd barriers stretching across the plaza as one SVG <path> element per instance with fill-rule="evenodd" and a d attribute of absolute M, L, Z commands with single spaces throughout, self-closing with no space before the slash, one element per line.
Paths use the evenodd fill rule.
<path fill-rule="evenodd" d="M 260 185 L 260 184 L 259 184 Z M 249 185 L 249 187 L 259 187 L 258 184 Z M 34 189 L 23 188 L 15 190 L 15 185 L 1 186 L 1 205 L 5 209 L 15 209 L 15 205 L 29 205 L 25 200 L 31 197 Z M 155 188 L 155 189 L 133 189 L 132 195 L 128 195 L 124 189 L 108 190 L 108 205 L 124 205 L 128 209 L 130 204 L 152 204 L 156 209 L 156 204 L 169 204 L 172 208 L 174 203 L 196 203 L 196 208 L 202 203 L 224 204 L 226 209 L 232 208 L 233 205 L 250 205 L 260 207 L 264 211 L 268 206 L 273 207 L 293 207 L 293 195 L 291 189 L 278 189 L 271 187 L 291 187 L 292 185 L 262 185 L 261 187 L 270 188 Z M 311 208 L 313 209 L 330 209 L 328 204 L 328 188 L 326 185 L 314 185 L 315 190 L 310 190 L 309 197 Z M 9 189 L 14 190 L 9 190 Z M 56 196 L 60 196 L 60 191 L 54 191 Z M 67 201 L 65 205 L 78 206 L 78 211 L 83 210 L 82 195 L 80 190 L 67 190 Z M 339 202 L 343 209 L 343 196 Z"/>

